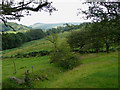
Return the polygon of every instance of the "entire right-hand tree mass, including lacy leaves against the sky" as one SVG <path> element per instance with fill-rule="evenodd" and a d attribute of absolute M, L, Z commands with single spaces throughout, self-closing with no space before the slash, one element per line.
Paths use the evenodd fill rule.
<path fill-rule="evenodd" d="M 105 0 L 106 1 L 106 0 Z M 120 2 L 85 2 L 88 10 L 81 10 L 93 23 L 81 31 L 72 32 L 68 43 L 73 49 L 109 53 L 120 38 Z"/>

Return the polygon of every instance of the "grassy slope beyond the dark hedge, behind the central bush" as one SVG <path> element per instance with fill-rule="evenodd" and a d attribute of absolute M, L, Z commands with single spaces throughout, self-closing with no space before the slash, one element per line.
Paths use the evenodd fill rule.
<path fill-rule="evenodd" d="M 69 34 L 69 32 L 60 33 L 59 41 L 64 40 L 68 34 Z M 18 48 L 4 50 L 2 52 L 2 54 L 3 54 L 2 56 L 9 57 L 11 55 L 16 55 L 17 53 L 29 53 L 29 52 L 42 51 L 42 50 L 50 51 L 51 48 L 52 48 L 52 44 L 49 41 L 47 41 L 45 38 L 43 38 L 40 40 L 34 40 L 34 41 L 27 42 Z"/>

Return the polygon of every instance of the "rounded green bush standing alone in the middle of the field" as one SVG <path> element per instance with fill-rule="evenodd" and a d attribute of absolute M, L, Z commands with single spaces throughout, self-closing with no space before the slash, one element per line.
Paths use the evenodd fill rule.
<path fill-rule="evenodd" d="M 66 41 L 53 48 L 50 60 L 50 63 L 55 63 L 65 69 L 73 69 L 73 67 L 79 64 L 77 56 L 70 51 L 70 46 Z"/>

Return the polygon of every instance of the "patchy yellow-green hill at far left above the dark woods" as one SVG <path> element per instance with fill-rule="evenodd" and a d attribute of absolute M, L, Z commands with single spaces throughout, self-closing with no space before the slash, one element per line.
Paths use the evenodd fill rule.
<path fill-rule="evenodd" d="M 11 25 L 16 31 L 20 31 L 20 32 L 24 32 L 24 31 L 32 29 L 31 27 L 27 27 L 25 25 L 17 24 L 14 22 L 8 22 L 8 24 Z M 5 32 L 13 31 L 12 28 L 6 27 L 3 23 L 0 23 L 0 27 L 2 27 L 2 28 L 0 28 L 0 32 L 1 31 L 5 31 Z"/>

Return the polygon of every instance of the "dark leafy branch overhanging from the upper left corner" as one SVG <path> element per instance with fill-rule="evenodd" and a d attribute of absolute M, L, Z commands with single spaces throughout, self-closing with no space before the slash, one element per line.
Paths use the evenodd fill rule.
<path fill-rule="evenodd" d="M 43 3 L 41 1 L 41 3 L 39 3 L 39 5 L 36 8 L 30 7 L 30 4 L 33 1 L 34 0 L 30 0 L 29 2 L 24 4 L 24 0 L 23 0 L 22 2 L 17 3 L 17 6 L 14 7 L 16 3 L 14 3 L 13 1 L 2 0 L 2 4 L 0 4 L 2 6 L 2 10 L 0 10 L 1 11 L 0 19 L 3 21 L 6 27 L 10 27 L 15 31 L 15 29 L 12 26 L 7 25 L 7 20 L 16 20 L 16 19 L 20 20 L 20 17 L 24 17 L 24 15 L 22 14 L 22 11 L 24 10 L 28 11 L 26 12 L 27 15 L 29 15 L 29 11 L 38 12 L 39 10 L 42 10 L 44 7 L 49 11 L 50 14 L 53 10 L 56 11 L 56 8 L 51 6 L 52 2 L 47 2 L 47 1 Z M 35 4 L 38 4 L 38 2 L 36 2 Z"/>

